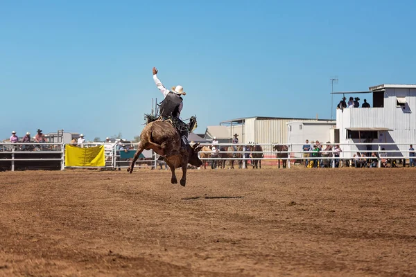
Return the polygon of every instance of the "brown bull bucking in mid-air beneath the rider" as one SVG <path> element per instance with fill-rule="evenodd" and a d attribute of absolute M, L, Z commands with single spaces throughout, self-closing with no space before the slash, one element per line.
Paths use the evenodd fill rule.
<path fill-rule="evenodd" d="M 182 179 L 180 179 L 181 186 L 187 183 L 187 165 L 199 168 L 202 166 L 202 161 L 198 158 L 198 152 L 202 149 L 199 143 L 194 145 L 187 145 L 186 148 L 180 147 L 180 136 L 170 123 L 156 120 L 148 123 L 140 134 L 140 142 L 137 148 L 135 157 L 127 169 L 132 173 L 135 168 L 135 162 L 139 158 L 143 150 L 153 150 L 160 156 L 164 157 L 172 172 L 172 184 L 177 184 L 175 175 L 176 168 L 182 168 Z"/>

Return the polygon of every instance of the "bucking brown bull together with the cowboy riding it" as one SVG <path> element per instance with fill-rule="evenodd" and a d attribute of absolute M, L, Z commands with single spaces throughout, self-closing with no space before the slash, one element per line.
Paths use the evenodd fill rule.
<path fill-rule="evenodd" d="M 196 167 L 202 166 L 202 161 L 198 157 L 202 146 L 199 143 L 191 146 L 188 142 L 189 131 L 192 131 L 196 126 L 196 120 L 191 120 L 189 125 L 180 120 L 180 112 L 183 107 L 181 96 L 186 94 L 182 86 L 173 87 L 171 90 L 166 89 L 157 78 L 155 67 L 153 67 L 153 80 L 164 95 L 164 100 L 160 105 L 160 117 L 144 127 L 140 134 L 137 152 L 127 171 L 132 173 L 141 152 L 151 149 L 162 156 L 162 159 L 171 168 L 172 184 L 177 184 L 175 169 L 182 168 L 183 175 L 180 184 L 185 186 L 188 163 Z"/>

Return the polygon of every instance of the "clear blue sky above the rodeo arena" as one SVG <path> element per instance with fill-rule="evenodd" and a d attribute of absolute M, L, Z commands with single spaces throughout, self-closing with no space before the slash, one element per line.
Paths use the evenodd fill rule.
<path fill-rule="evenodd" d="M 182 84 L 196 132 L 245 116 L 331 116 L 336 91 L 416 82 L 415 1 L 0 1 L 0 139 L 140 134 Z M 334 107 L 340 99 L 334 97 Z M 363 99 L 363 97 L 361 97 Z"/>

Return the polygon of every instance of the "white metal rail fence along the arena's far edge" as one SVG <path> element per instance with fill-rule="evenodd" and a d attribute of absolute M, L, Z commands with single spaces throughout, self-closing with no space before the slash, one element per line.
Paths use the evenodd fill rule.
<path fill-rule="evenodd" d="M 19 168 L 27 167 L 37 167 L 37 164 L 40 162 L 44 163 L 46 161 L 51 161 L 53 167 L 59 167 L 60 170 L 64 170 L 64 168 L 68 168 L 65 166 L 65 146 L 71 143 L 0 143 L 0 168 L 10 168 L 10 170 L 14 171 L 16 166 Z M 247 161 L 254 161 L 254 160 L 264 160 L 264 161 L 277 161 L 277 160 L 286 160 L 288 168 L 291 167 L 296 162 L 302 163 L 304 160 L 307 161 L 320 161 L 322 164 L 323 161 L 329 161 L 329 166 L 336 167 L 338 162 L 340 161 L 351 161 L 354 163 L 355 159 L 360 159 L 354 157 L 354 153 L 356 150 L 352 150 L 352 145 L 356 148 L 367 148 L 371 145 L 371 150 L 361 150 L 361 153 L 375 153 L 376 157 L 361 157 L 361 159 L 367 159 L 370 161 L 376 161 L 378 167 L 381 167 L 382 159 L 389 159 L 389 160 L 409 160 L 413 163 L 415 162 L 415 157 L 411 156 L 414 155 L 414 152 L 410 152 L 410 150 L 403 150 L 403 148 L 408 148 L 410 144 L 413 143 L 339 143 L 337 145 L 340 146 L 340 152 L 333 150 L 334 144 L 327 144 L 321 143 L 322 150 L 319 152 L 317 157 L 314 157 L 312 154 L 316 153 L 313 151 L 295 151 L 293 147 L 295 145 L 303 145 L 301 143 L 297 144 L 288 144 L 287 151 L 275 151 L 274 148 L 277 145 L 276 143 L 264 143 L 258 144 L 261 146 L 262 151 L 250 151 L 248 150 L 248 146 L 245 144 L 229 144 L 229 143 L 220 143 L 215 145 L 216 148 L 220 148 L 220 151 L 213 152 L 212 150 L 209 151 L 201 151 L 200 154 L 206 153 L 208 157 L 201 157 L 202 161 L 243 161 L 243 165 L 247 165 Z M 130 166 L 131 158 L 129 159 L 122 159 L 121 152 L 131 151 L 135 152 L 137 150 L 138 143 L 124 143 L 121 144 L 110 144 L 110 143 L 83 143 L 82 147 L 92 147 L 96 145 L 104 145 L 105 146 L 105 166 L 101 168 L 109 168 L 109 169 L 121 169 L 127 168 Z M 201 144 L 208 147 L 211 147 L 211 144 L 205 143 Z M 236 151 L 232 146 L 242 146 L 243 151 Z M 327 145 L 332 146 L 332 150 L 324 150 L 327 148 Z M 404 145 L 404 146 L 403 146 Z M 376 148 L 376 150 L 374 150 Z M 390 150 L 383 150 L 383 148 L 390 148 Z M 391 149 L 396 148 L 396 149 Z M 402 149 L 400 149 L 402 148 Z M 227 155 L 223 155 L 227 153 Z M 338 155 L 338 154 L 339 155 Z M 239 155 L 241 154 L 241 156 Z M 253 158 L 252 154 L 263 154 L 261 158 Z M 279 157 L 277 155 L 279 154 Z M 309 154 L 311 157 L 303 157 L 304 154 Z M 236 155 L 240 157 L 236 157 Z M 287 157 L 284 157 L 286 156 Z M 201 155 L 200 155 L 201 156 Z M 53 163 L 56 161 L 56 163 Z M 24 165 L 22 162 L 31 163 L 31 165 Z M 45 165 L 44 165 L 45 166 Z M 157 155 L 152 151 L 151 157 L 147 157 L 145 159 L 139 159 L 135 165 L 137 168 L 157 168 L 158 161 Z M 45 166 L 47 167 L 47 165 Z M 81 167 L 87 168 L 87 167 Z M 89 167 L 88 167 L 89 168 Z"/>

